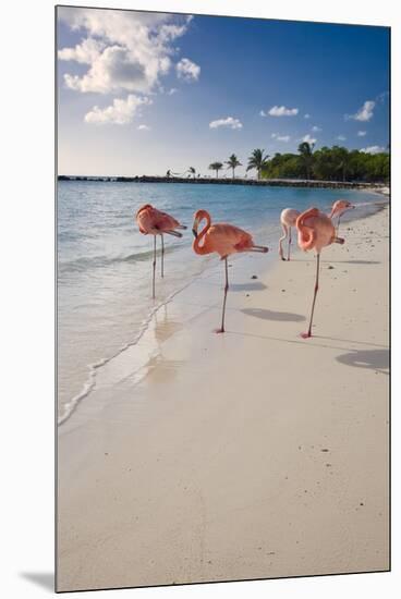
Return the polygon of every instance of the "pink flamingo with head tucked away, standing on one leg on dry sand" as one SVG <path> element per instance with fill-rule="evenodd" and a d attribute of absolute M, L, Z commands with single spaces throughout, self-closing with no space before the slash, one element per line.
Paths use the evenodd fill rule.
<path fill-rule="evenodd" d="M 314 249 L 316 253 L 316 280 L 315 291 L 312 302 L 309 328 L 306 333 L 302 333 L 304 339 L 312 337 L 312 322 L 315 310 L 315 302 L 317 290 L 319 289 L 319 268 L 320 268 L 320 252 L 327 245 L 332 243 L 343 244 L 344 240 L 336 236 L 336 230 L 331 219 L 320 212 L 317 208 L 309 208 L 302 212 L 296 219 L 297 243 L 301 249 L 307 252 Z"/>

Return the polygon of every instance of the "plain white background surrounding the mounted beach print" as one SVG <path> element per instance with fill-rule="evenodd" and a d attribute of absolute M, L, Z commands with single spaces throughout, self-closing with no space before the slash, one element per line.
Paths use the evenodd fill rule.
<path fill-rule="evenodd" d="M 381 0 L 380 3 L 349 0 L 330 3 L 288 0 L 277 4 L 265 0 L 104 0 L 82 3 L 165 12 L 390 25 L 392 107 L 401 106 L 401 20 L 392 0 Z M 0 235 L 3 365 L 0 379 L 3 462 L 0 501 L 1 587 L 8 599 L 48 596 L 53 567 L 53 4 L 48 0 L 20 0 L 9 2 L 2 9 L 1 147 L 5 168 L 1 179 Z M 400 111 L 393 110 L 393 164 L 401 163 L 400 135 Z M 400 170 L 394 169 L 394 257 L 401 256 L 400 183 Z M 392 291 L 392 355 L 393 363 L 400 364 L 399 267 L 398 274 L 393 268 Z M 361 595 L 365 599 L 396 597 L 396 588 L 401 588 L 400 368 L 394 368 L 392 382 L 391 573 L 127 589 L 107 591 L 107 597 L 235 599 L 244 594 L 251 599 L 266 596 L 293 598 L 294 594 L 296 598 L 307 599 Z"/>

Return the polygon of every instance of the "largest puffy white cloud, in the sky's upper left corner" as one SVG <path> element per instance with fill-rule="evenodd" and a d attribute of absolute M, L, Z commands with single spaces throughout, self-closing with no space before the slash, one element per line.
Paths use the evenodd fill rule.
<path fill-rule="evenodd" d="M 185 34 L 190 17 L 61 7 L 61 21 L 86 37 L 59 59 L 87 64 L 83 74 L 66 73 L 65 85 L 82 93 L 149 93 L 172 65 L 173 40 Z"/>

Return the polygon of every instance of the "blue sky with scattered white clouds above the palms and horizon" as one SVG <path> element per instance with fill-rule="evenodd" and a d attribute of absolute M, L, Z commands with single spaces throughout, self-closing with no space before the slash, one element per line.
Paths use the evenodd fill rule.
<path fill-rule="evenodd" d="M 388 144 L 384 27 L 58 10 L 59 173 L 163 174 Z M 244 174 L 239 168 L 238 174 Z"/>

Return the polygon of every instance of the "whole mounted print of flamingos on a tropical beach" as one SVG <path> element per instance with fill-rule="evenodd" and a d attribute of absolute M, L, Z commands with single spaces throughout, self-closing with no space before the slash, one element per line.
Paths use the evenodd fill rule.
<path fill-rule="evenodd" d="M 57 590 L 389 570 L 389 38 L 58 7 Z"/>

